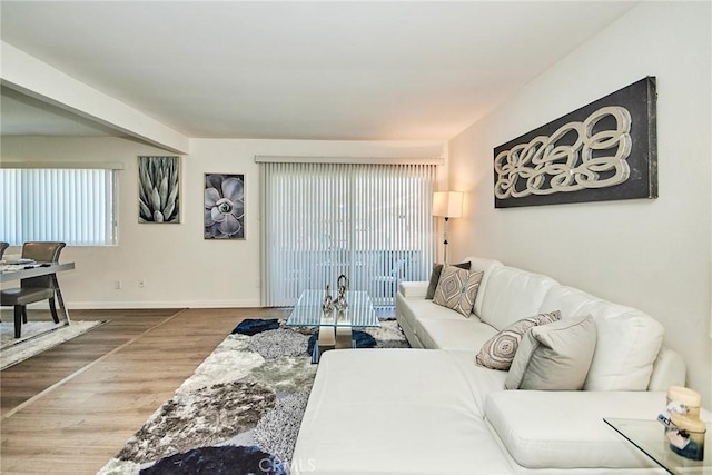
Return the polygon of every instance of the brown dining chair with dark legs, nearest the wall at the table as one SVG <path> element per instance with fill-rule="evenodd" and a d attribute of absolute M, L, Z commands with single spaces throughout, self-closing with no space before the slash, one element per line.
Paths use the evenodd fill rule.
<path fill-rule="evenodd" d="M 65 243 L 32 241 L 22 245 L 22 257 L 38 263 L 58 263 Z M 34 301 L 49 300 L 49 309 L 56 324 L 59 323 L 57 305 L 55 303 L 56 286 L 53 274 L 30 277 L 20 280 L 20 287 L 3 289 L 1 304 L 3 307 L 14 307 L 14 337 L 20 338 L 22 324 L 27 323 L 27 306 Z"/>

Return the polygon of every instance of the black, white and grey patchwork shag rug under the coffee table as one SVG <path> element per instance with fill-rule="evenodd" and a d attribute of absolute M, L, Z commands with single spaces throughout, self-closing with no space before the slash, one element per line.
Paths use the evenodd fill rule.
<path fill-rule="evenodd" d="M 359 347 L 408 347 L 395 320 L 354 334 Z M 99 474 L 288 474 L 317 369 L 315 336 L 245 320 Z"/>

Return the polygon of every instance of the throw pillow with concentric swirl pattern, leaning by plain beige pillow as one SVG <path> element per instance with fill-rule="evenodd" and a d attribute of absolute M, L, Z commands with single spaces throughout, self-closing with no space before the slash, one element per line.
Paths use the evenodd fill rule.
<path fill-rule="evenodd" d="M 492 369 L 508 370 L 522 342 L 522 336 L 532 327 L 551 324 L 560 319 L 561 311 L 555 310 L 513 323 L 482 345 L 479 353 L 475 357 L 477 364 Z"/>

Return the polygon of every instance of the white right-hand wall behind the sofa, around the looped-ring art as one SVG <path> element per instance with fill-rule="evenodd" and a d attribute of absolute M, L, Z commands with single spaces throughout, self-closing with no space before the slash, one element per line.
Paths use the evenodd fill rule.
<path fill-rule="evenodd" d="M 645 2 L 449 144 L 454 258 L 487 256 L 640 308 L 712 406 L 711 4 Z M 657 78 L 660 198 L 494 209 L 493 149 L 645 76 Z"/>

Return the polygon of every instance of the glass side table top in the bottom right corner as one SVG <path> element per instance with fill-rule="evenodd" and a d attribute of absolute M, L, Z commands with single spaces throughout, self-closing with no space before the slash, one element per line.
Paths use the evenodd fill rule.
<path fill-rule="evenodd" d="M 706 424 L 704 458 L 691 461 L 670 449 L 665 428 L 657 420 L 610 417 L 604 417 L 603 420 L 671 474 L 712 475 L 712 437 L 710 436 L 712 425 L 710 423 Z"/>

